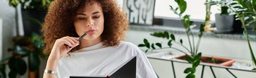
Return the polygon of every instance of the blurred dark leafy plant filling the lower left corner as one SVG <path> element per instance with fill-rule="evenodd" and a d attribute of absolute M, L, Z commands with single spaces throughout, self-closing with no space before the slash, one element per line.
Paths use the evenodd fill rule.
<path fill-rule="evenodd" d="M 15 78 L 17 75 L 24 75 L 28 68 L 29 78 L 38 78 L 40 57 L 45 57 L 42 53 L 44 49 L 42 41 L 42 37 L 36 33 L 32 33 L 30 37 L 13 37 L 14 47 L 8 49 L 12 55 L 0 61 L 0 77 L 6 78 L 8 75 L 9 78 Z M 24 57 L 28 57 L 28 63 L 24 61 Z M 5 73 L 6 65 L 10 69 L 8 74 Z"/>

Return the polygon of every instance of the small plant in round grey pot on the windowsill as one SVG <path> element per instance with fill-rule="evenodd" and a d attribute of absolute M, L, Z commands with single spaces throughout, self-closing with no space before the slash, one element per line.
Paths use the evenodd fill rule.
<path fill-rule="evenodd" d="M 230 33 L 233 28 L 234 15 L 230 15 L 226 5 L 220 5 L 221 13 L 215 14 L 216 33 Z"/>

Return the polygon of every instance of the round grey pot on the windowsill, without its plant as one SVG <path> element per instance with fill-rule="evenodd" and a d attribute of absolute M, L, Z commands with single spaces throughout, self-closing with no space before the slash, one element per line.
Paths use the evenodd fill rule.
<path fill-rule="evenodd" d="M 217 13 L 216 17 L 216 33 L 230 33 L 233 31 L 234 15 L 220 15 Z"/>

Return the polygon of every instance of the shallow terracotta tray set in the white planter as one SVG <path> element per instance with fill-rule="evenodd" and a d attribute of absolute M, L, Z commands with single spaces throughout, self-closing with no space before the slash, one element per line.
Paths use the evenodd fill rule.
<path fill-rule="evenodd" d="M 180 57 L 177 57 L 177 59 L 183 59 L 185 60 L 186 55 L 181 55 Z M 206 64 L 206 65 L 220 65 L 220 66 L 227 66 L 230 67 L 232 63 L 235 62 L 234 59 L 226 59 L 222 57 L 214 57 L 216 63 L 211 63 L 210 61 L 212 60 L 212 57 L 209 56 L 201 56 L 201 64 Z"/>

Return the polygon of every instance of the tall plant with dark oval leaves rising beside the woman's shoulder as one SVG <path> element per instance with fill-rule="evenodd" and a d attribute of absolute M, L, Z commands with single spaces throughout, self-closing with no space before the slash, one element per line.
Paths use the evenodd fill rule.
<path fill-rule="evenodd" d="M 170 5 L 170 10 L 174 11 L 174 13 L 176 15 L 179 16 L 179 18 L 181 19 L 183 26 L 185 27 L 185 31 L 186 31 L 186 35 L 187 35 L 187 39 L 189 42 L 189 47 L 186 47 L 185 45 L 183 45 L 183 39 L 179 39 L 177 40 L 174 36 L 174 34 L 172 33 L 168 33 L 167 31 L 164 32 L 155 32 L 152 33 L 150 35 L 154 36 L 154 37 L 159 37 L 159 38 L 164 38 L 168 40 L 168 43 L 166 43 L 168 45 L 168 47 L 162 47 L 162 43 L 150 43 L 148 41 L 148 39 L 143 39 L 143 43 L 139 44 L 139 47 L 147 47 L 148 49 L 146 49 L 146 52 L 148 52 L 149 50 L 153 51 L 156 49 L 166 49 L 166 48 L 170 48 L 170 49 L 175 49 L 177 51 L 180 51 L 182 53 L 185 53 L 185 59 L 189 62 L 192 63 L 192 67 L 188 67 L 187 69 L 185 69 L 184 73 L 187 73 L 187 77 L 186 78 L 194 78 L 195 75 L 195 71 L 196 71 L 196 67 L 199 65 L 200 63 L 200 57 L 201 57 L 201 53 L 198 52 L 199 49 L 199 44 L 201 41 L 201 37 L 203 35 L 203 31 L 204 31 L 204 24 L 201 24 L 200 26 L 200 30 L 199 30 L 199 34 L 198 34 L 198 41 L 195 44 L 195 39 L 194 39 L 194 33 L 191 31 L 191 29 L 193 29 L 193 21 L 190 20 L 189 15 L 184 15 L 183 13 L 186 11 L 187 9 L 187 2 L 185 0 L 175 0 L 175 2 L 179 5 L 179 7 L 176 7 L 175 9 Z M 176 43 L 177 45 L 180 45 L 181 47 L 183 47 L 184 50 L 182 49 L 178 49 L 175 47 L 172 47 L 172 43 Z M 156 48 L 155 46 L 158 46 L 158 48 Z M 187 54 L 187 53 L 190 53 Z"/>

